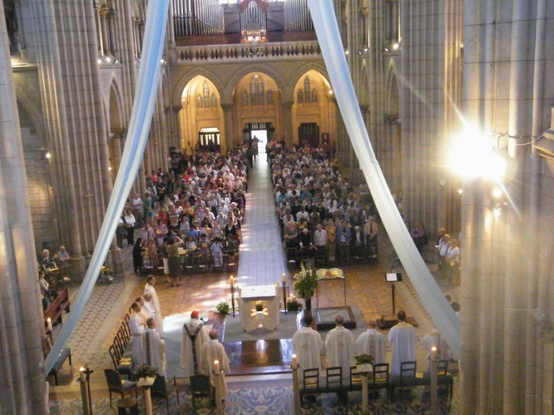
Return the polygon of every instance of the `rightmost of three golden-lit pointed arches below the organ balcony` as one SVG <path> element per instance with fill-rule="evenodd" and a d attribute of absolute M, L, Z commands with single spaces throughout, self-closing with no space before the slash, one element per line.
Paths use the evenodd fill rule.
<path fill-rule="evenodd" d="M 323 144 L 323 134 L 331 145 L 337 138 L 337 106 L 328 79 L 321 72 L 310 68 L 300 73 L 292 86 L 292 141 L 304 140 L 317 147 Z"/>

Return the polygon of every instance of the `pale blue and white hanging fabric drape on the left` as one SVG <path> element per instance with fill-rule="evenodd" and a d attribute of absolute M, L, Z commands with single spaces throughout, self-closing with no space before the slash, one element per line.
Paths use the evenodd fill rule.
<path fill-rule="evenodd" d="M 50 373 L 57 356 L 69 340 L 69 336 L 82 315 L 84 306 L 91 297 L 94 284 L 96 284 L 96 279 L 100 273 L 100 267 L 111 246 L 111 241 L 114 239 L 120 213 L 125 206 L 125 201 L 142 163 L 159 87 L 160 60 L 164 38 L 166 37 L 168 10 L 169 0 L 155 0 L 148 3 L 139 79 L 136 84 L 131 120 L 129 121 L 127 139 L 125 140 L 125 148 L 123 149 L 123 156 L 121 156 L 116 183 L 114 184 L 114 190 L 111 192 L 106 216 L 102 228 L 100 228 L 100 234 L 96 241 L 87 274 L 75 302 L 71 305 L 69 318 L 64 322 L 51 352 L 44 361 L 45 376 Z"/>

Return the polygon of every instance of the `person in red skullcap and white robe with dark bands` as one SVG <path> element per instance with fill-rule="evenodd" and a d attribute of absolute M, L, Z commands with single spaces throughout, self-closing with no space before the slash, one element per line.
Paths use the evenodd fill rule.
<path fill-rule="evenodd" d="M 190 320 L 183 325 L 181 367 L 185 378 L 202 370 L 202 346 L 210 340 L 208 328 L 198 317 L 198 311 L 193 311 L 190 313 Z"/>

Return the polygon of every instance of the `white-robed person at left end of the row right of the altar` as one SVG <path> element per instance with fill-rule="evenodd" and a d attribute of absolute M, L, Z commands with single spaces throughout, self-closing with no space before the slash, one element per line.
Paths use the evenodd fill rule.
<path fill-rule="evenodd" d="M 306 315 L 302 329 L 292 335 L 292 349 L 301 365 L 300 379 L 304 377 L 304 369 L 321 369 L 321 356 L 325 355 L 325 344 L 321 334 L 312 329 L 312 322 L 312 316 Z"/>

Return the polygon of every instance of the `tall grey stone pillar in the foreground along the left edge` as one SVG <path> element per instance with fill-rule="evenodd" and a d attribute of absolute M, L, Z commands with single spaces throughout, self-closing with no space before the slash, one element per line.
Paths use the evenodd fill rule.
<path fill-rule="evenodd" d="M 0 411 L 47 414 L 44 323 L 3 3 L 0 53 Z"/>

